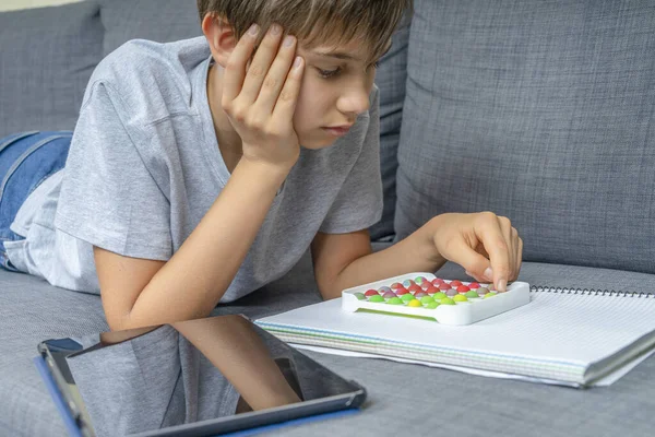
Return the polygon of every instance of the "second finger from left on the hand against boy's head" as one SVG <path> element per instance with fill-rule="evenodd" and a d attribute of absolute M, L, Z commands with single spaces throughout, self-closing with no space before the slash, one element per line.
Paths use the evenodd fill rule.
<path fill-rule="evenodd" d="M 254 58 L 252 59 L 252 63 L 250 64 L 248 73 L 246 74 L 246 80 L 243 81 L 243 88 L 239 97 L 242 98 L 246 104 L 252 104 L 260 95 L 262 83 L 264 82 L 264 79 L 267 78 L 271 63 L 273 63 L 273 60 L 277 56 L 281 38 L 282 27 L 279 24 L 271 25 L 266 36 L 262 39 L 262 44 L 260 44 L 254 54 Z"/>

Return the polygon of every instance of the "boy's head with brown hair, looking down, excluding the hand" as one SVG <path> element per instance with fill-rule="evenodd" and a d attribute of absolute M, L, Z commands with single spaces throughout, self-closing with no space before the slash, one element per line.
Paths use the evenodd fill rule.
<path fill-rule="evenodd" d="M 294 125 L 300 143 L 318 149 L 335 140 L 322 128 L 352 125 L 368 109 L 374 63 L 390 48 L 391 36 L 412 2 L 198 0 L 198 9 L 221 64 L 253 23 L 262 29 L 260 37 L 277 23 L 285 34 L 298 38 L 297 55 L 306 68 Z M 215 23 L 212 35 L 204 23 L 207 19 Z"/>

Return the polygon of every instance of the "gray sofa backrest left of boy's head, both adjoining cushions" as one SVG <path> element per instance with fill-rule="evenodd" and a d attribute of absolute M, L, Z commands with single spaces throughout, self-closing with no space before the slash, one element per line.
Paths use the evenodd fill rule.
<path fill-rule="evenodd" d="M 200 35 L 190 0 L 85 0 L 0 13 L 0 138 L 72 130 L 93 70 L 129 39 Z"/>

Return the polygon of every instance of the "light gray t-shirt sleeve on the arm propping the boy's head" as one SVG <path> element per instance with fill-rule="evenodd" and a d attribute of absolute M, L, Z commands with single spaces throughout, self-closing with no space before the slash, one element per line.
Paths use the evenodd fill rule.
<path fill-rule="evenodd" d="M 146 137 L 109 84 L 90 85 L 66 164 L 55 226 L 133 258 L 172 256 L 170 202 L 138 145 Z"/>

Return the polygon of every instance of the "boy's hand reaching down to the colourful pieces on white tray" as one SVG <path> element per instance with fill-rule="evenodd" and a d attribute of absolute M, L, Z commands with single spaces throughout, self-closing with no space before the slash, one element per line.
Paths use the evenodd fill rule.
<path fill-rule="evenodd" d="M 508 217 L 491 212 L 442 214 L 428 222 L 439 255 L 479 282 L 507 290 L 521 270 L 523 240 Z"/>

